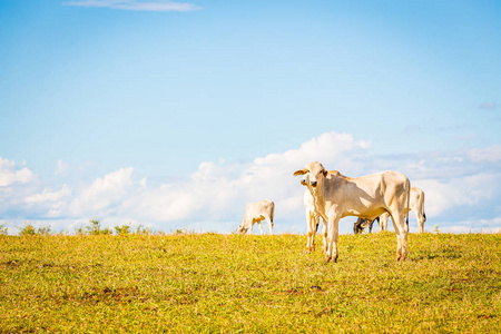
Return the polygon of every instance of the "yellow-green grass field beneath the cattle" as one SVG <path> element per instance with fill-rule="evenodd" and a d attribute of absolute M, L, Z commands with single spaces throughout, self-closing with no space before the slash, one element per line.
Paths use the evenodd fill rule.
<path fill-rule="evenodd" d="M 316 239 L 317 246 L 322 240 Z M 0 236 L 0 332 L 499 333 L 501 235 Z M 320 248 L 320 247 L 317 247 Z"/>

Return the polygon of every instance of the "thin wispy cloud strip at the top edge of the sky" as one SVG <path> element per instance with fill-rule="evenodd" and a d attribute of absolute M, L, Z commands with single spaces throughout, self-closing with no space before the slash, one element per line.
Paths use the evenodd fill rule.
<path fill-rule="evenodd" d="M 202 9 L 200 7 L 186 3 L 174 2 L 166 0 L 80 0 L 66 1 L 63 4 L 78 6 L 88 8 L 111 8 L 121 10 L 140 10 L 140 11 L 193 11 Z"/>

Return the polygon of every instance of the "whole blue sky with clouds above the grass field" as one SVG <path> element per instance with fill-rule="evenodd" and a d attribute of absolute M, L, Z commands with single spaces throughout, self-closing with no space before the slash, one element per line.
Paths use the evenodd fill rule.
<path fill-rule="evenodd" d="M 499 233 L 500 32 L 484 0 L 0 0 L 0 225 L 232 233 L 268 198 L 303 234 L 317 160 Z"/>

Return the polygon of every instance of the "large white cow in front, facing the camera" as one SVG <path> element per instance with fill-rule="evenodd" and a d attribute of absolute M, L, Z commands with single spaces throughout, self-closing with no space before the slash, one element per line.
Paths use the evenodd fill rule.
<path fill-rule="evenodd" d="M 404 175 L 387 170 L 362 177 L 346 177 L 338 171 L 327 171 L 315 161 L 294 175 L 307 175 L 318 214 L 328 222 L 326 261 L 337 261 L 340 219 L 358 216 L 375 219 L 389 212 L 396 232 L 396 261 L 404 261 L 407 253 L 409 207 L 411 183 Z"/>

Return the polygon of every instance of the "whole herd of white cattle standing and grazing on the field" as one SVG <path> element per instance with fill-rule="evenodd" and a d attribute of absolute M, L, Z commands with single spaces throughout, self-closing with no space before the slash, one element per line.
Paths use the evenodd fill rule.
<path fill-rule="evenodd" d="M 306 248 L 315 250 L 315 234 L 322 217 L 323 252 L 327 262 L 337 261 L 337 238 L 340 219 L 357 216 L 353 225 L 355 234 L 362 233 L 379 222 L 380 230 L 386 230 L 391 216 L 396 234 L 396 261 L 404 261 L 407 253 L 409 212 L 413 210 L 418 219 L 418 232 L 424 232 L 424 193 L 412 187 L 409 178 L 400 173 L 386 170 L 361 177 L 347 177 L 337 170 L 327 170 L 315 161 L 296 170 L 294 176 L 302 175 L 304 207 L 307 223 Z M 272 200 L 249 203 L 246 207 L 238 233 L 252 233 L 255 223 L 266 219 L 269 233 L 273 234 L 273 216 L 275 204 Z"/>

